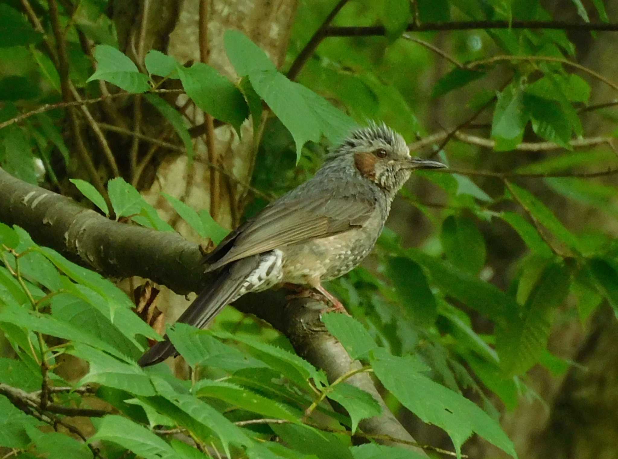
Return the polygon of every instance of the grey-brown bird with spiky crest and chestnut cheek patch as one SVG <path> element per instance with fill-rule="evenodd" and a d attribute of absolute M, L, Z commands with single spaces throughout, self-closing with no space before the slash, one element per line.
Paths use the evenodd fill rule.
<path fill-rule="evenodd" d="M 384 124 L 352 131 L 313 178 L 240 225 L 206 256 L 210 283 L 178 321 L 203 328 L 245 293 L 281 283 L 313 287 L 333 309 L 345 311 L 321 283 L 344 275 L 369 254 L 412 170 L 442 167 L 410 157 L 404 138 Z M 174 354 L 166 338 L 139 364 Z"/>

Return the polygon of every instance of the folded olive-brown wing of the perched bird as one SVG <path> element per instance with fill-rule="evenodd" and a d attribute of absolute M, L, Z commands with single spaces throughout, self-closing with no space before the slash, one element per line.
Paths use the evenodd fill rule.
<path fill-rule="evenodd" d="M 215 260 L 211 258 L 207 270 L 250 255 L 363 226 L 375 206 L 373 199 L 358 196 L 326 195 L 318 199 L 277 201 L 222 241 L 221 249 L 217 247 L 213 252 Z"/>

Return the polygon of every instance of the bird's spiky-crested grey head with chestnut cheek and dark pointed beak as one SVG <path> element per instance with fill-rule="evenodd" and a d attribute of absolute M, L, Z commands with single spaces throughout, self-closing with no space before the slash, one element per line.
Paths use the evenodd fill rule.
<path fill-rule="evenodd" d="M 404 138 L 385 124 L 370 123 L 352 131 L 333 152 L 349 156 L 361 176 L 387 192 L 397 192 L 414 169 L 443 168 L 446 165 L 413 158 Z"/>

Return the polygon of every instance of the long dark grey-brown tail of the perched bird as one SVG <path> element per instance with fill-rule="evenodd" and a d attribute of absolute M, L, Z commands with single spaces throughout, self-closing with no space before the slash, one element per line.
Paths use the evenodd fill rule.
<path fill-rule="evenodd" d="M 177 322 L 198 328 L 208 325 L 221 312 L 222 308 L 237 299 L 243 283 L 259 263 L 260 257 L 258 255 L 242 258 L 222 268 L 211 283 L 182 313 Z M 163 362 L 167 357 L 177 354 L 176 348 L 169 341 L 167 335 L 164 338 L 165 341 L 159 341 L 140 357 L 140 360 L 138 360 L 140 366 L 155 365 L 155 363 Z"/>

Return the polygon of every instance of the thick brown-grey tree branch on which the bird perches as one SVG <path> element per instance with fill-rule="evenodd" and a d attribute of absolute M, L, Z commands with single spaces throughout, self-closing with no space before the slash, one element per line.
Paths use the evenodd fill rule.
<path fill-rule="evenodd" d="M 205 280 L 198 244 L 177 233 L 108 220 L 67 197 L 14 178 L 1 168 L 0 193 L 4 196 L 0 200 L 0 221 L 21 226 L 36 243 L 52 247 L 106 276 L 150 278 L 181 294 L 198 290 Z M 284 333 L 298 354 L 323 368 L 330 381 L 360 368 L 360 363 L 350 358 L 321 323 L 320 310 L 325 304 L 307 299 L 287 302 L 285 294 L 284 290 L 247 294 L 234 306 Z M 388 410 L 368 374 L 356 374 L 347 382 L 369 392 L 383 408 L 380 416 L 360 423 L 366 434 L 415 441 Z M 397 444 L 387 439 L 378 441 Z M 418 447 L 405 447 L 425 454 Z"/>

